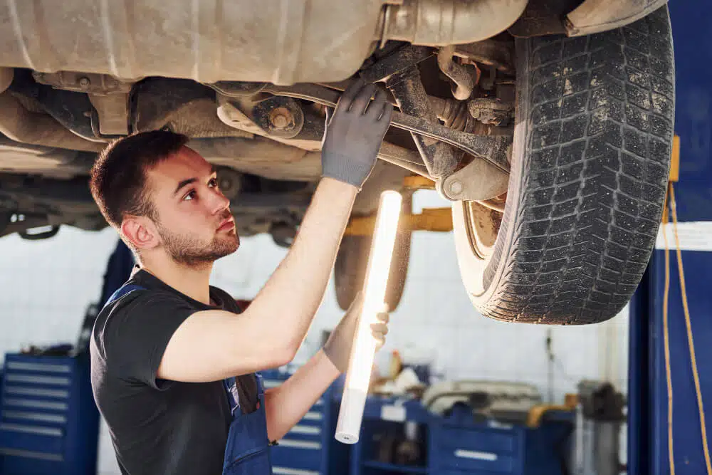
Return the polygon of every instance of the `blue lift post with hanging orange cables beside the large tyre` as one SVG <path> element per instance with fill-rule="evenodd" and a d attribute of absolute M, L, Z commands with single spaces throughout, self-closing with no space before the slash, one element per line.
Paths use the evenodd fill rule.
<path fill-rule="evenodd" d="M 705 26 L 712 20 L 712 4 L 671 1 L 669 9 L 679 135 L 673 151 L 679 167 L 671 167 L 669 207 L 676 214 L 664 216 L 656 249 L 629 306 L 628 474 L 711 475 L 706 427 L 712 427 L 712 419 L 703 404 L 709 414 L 712 48 Z"/>

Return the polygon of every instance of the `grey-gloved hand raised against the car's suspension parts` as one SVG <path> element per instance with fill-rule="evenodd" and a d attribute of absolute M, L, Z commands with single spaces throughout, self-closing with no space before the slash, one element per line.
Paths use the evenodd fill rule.
<path fill-rule="evenodd" d="M 374 93 L 375 99 L 369 103 Z M 392 113 L 393 105 L 386 102 L 383 90 L 362 79 L 352 82 L 334 112 L 327 108 L 321 149 L 322 176 L 361 189 L 376 164 Z"/>

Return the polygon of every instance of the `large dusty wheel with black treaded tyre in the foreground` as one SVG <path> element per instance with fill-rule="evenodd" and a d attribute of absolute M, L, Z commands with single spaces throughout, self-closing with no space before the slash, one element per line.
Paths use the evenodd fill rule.
<path fill-rule="evenodd" d="M 459 267 L 483 314 L 597 323 L 637 287 L 669 174 L 674 60 L 667 7 L 580 38 L 516 40 L 504 214 L 454 202 Z"/>

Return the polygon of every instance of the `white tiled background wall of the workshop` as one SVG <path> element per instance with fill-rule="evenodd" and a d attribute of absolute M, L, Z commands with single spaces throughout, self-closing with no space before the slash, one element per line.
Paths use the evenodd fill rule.
<path fill-rule="evenodd" d="M 418 192 L 414 208 L 446 205 L 434 192 Z M 239 225 L 239 224 L 238 224 Z M 73 343 L 88 303 L 100 293 L 116 235 L 111 229 L 85 232 L 63 228 L 48 241 L 0 239 L 0 352 L 23 345 Z M 251 298 L 286 255 L 269 236 L 243 239 L 238 253 L 218 261 L 213 284 L 236 298 Z M 333 279 L 297 360 L 318 349 L 321 330 L 340 318 Z M 431 360 L 441 378 L 486 378 L 532 382 L 548 398 L 545 338 L 552 332 L 554 399 L 574 392 L 584 378 L 607 377 L 624 390 L 627 315 L 586 327 L 543 327 L 501 323 L 473 309 L 462 286 L 452 234 L 414 233 L 409 276 L 402 302 L 391 315 L 385 365 L 390 350 Z M 383 367 L 383 366 L 382 366 Z M 99 471 L 119 471 L 106 428 L 100 439 Z"/>

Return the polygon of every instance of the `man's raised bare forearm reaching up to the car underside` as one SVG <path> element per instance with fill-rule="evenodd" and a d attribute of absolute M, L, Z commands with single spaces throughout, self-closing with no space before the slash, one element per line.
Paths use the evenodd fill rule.
<path fill-rule="evenodd" d="M 286 258 L 248 310 L 275 345 L 296 352 L 322 301 L 357 189 L 324 178 Z"/>

